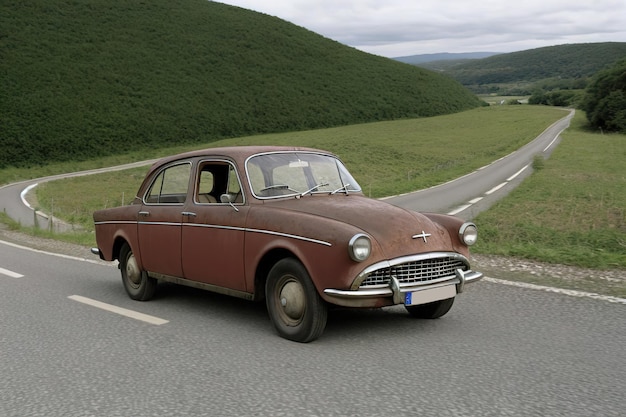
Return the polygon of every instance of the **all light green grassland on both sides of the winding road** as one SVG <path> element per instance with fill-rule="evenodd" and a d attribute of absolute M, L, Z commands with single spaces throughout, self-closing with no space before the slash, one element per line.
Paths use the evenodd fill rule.
<path fill-rule="evenodd" d="M 556 108 L 496 106 L 433 118 L 236 138 L 210 146 L 290 144 L 328 149 L 344 160 L 366 194 L 382 197 L 470 172 L 519 148 L 564 115 Z M 538 165 L 541 169 L 475 219 L 481 230 L 476 253 L 626 270 L 626 137 L 589 133 L 584 123 L 578 112 L 552 157 Z M 183 150 L 91 161 L 73 170 Z M 37 188 L 36 204 L 80 230 L 57 238 L 92 245 L 93 210 L 128 203 L 146 169 L 45 183 Z M 63 170 L 69 171 L 63 165 L 0 171 L 0 178 Z"/>

